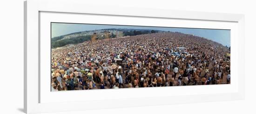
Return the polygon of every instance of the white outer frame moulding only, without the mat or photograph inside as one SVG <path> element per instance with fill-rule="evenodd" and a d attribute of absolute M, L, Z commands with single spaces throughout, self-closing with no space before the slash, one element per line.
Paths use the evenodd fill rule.
<path fill-rule="evenodd" d="M 60 5 L 61 3 L 61 5 Z M 206 12 L 190 12 L 190 11 L 177 11 L 177 10 L 162 10 L 162 9 L 146 9 L 146 8 L 134 8 L 134 7 L 122 7 L 122 11 L 115 10 L 116 7 L 112 8 L 102 8 L 92 9 L 93 5 L 84 7 L 83 5 L 87 4 L 86 1 L 77 0 L 76 2 L 72 0 L 27 0 L 24 2 L 24 111 L 26 113 L 42 113 L 42 112 L 58 112 L 58 111 L 70 111 L 70 110 L 86 110 L 86 109 L 97 109 L 94 107 L 88 106 L 84 109 L 78 109 L 71 107 L 69 109 L 61 110 L 61 107 L 58 105 L 65 105 L 67 102 L 58 102 L 58 103 L 39 103 L 39 12 L 40 11 L 49 11 L 49 12 L 62 12 L 62 13 L 89 13 L 89 14 L 105 14 L 105 15 L 123 15 L 123 16 L 137 16 L 137 17 L 159 17 L 159 18 L 172 18 L 172 19 L 195 19 L 195 20 L 214 20 L 214 21 L 232 21 L 238 23 L 238 40 L 241 45 L 238 46 L 238 52 L 240 55 L 235 55 L 239 58 L 239 82 L 238 82 L 238 92 L 236 93 L 227 93 L 227 94 L 215 94 L 216 98 L 226 98 L 225 100 L 243 100 L 244 99 L 244 15 L 242 14 L 229 14 L 229 13 L 206 13 Z M 67 6 L 76 6 L 76 7 L 67 7 Z M 65 8 L 64 8 L 65 7 Z M 130 10 L 138 10 L 139 12 L 130 13 Z M 104 9 L 104 13 L 102 12 Z M 152 11 L 152 12 L 150 12 Z M 150 13 L 148 13 L 150 12 Z M 156 13 L 162 12 L 162 13 Z M 166 15 L 169 14 L 169 15 Z M 35 86 L 37 85 L 37 86 Z M 187 96 L 187 95 L 185 95 Z M 208 98 L 209 95 L 200 95 L 194 96 L 195 98 Z M 184 97 L 184 96 L 183 96 Z M 165 99 L 168 97 L 162 97 Z M 145 101 L 145 98 L 134 98 L 132 100 Z M 119 99 L 115 101 L 128 101 L 132 103 L 131 99 Z M 157 100 L 152 98 L 152 100 Z M 222 101 L 222 99 L 220 99 Z M 211 100 L 202 100 L 205 101 L 220 101 L 218 99 Z M 107 100 L 111 101 L 111 100 Z M 73 102 L 72 104 L 76 105 L 85 105 L 85 104 L 97 104 L 101 101 L 81 101 Z M 165 102 L 154 102 L 154 105 L 166 105 L 166 104 L 177 104 L 177 103 L 189 103 L 194 102 L 193 99 L 188 101 L 173 101 L 172 103 Z M 52 108 L 52 106 L 56 108 Z M 141 102 L 135 104 L 132 107 L 137 106 L 148 106 L 148 102 Z M 121 106 L 120 106 L 121 107 Z"/>

